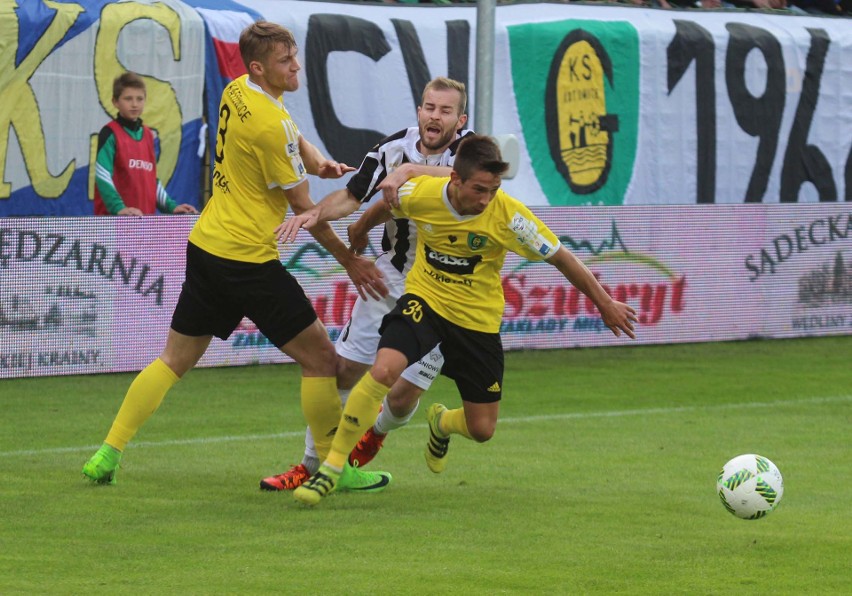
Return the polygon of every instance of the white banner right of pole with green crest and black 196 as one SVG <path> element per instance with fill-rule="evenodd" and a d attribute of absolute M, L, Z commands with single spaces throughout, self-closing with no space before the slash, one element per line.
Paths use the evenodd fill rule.
<path fill-rule="evenodd" d="M 848 19 L 523 5 L 497 23 L 495 130 L 521 145 L 504 188 L 529 204 L 852 201 Z"/>

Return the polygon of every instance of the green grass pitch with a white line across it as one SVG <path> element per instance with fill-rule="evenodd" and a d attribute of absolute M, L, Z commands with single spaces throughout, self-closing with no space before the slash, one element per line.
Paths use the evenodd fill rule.
<path fill-rule="evenodd" d="M 125 453 L 80 468 L 132 375 L 2 381 L 0 594 L 848 594 L 852 337 L 507 355 L 494 439 L 423 461 L 425 406 L 315 509 L 258 490 L 297 462 L 294 366 L 191 372 Z M 424 403 L 458 405 L 442 378 Z M 785 479 L 757 521 L 716 475 Z"/>

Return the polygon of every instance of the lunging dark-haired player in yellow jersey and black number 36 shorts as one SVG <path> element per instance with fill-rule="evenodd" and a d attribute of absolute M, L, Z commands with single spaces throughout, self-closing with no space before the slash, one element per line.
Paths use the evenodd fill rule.
<path fill-rule="evenodd" d="M 452 434 L 479 442 L 491 438 L 503 385 L 500 268 L 507 251 L 546 260 L 592 300 L 616 336 L 635 339 L 633 307 L 613 300 L 553 232 L 500 190 L 508 167 L 491 138 L 471 135 L 459 145 L 449 179 L 423 176 L 399 189 L 393 215 L 417 225 L 406 293 L 382 322 L 375 364 L 353 388 L 328 458 L 294 491 L 298 501 L 315 505 L 334 490 L 347 455 L 375 421 L 388 388 L 439 342 L 442 373 L 455 380 L 463 407 L 429 408 L 429 468 L 443 471 Z"/>

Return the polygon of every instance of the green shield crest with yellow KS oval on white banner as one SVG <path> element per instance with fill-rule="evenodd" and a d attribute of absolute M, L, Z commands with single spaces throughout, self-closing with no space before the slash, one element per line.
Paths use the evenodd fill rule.
<path fill-rule="evenodd" d="M 626 22 L 510 26 L 536 178 L 553 205 L 620 205 L 638 139 L 639 37 Z M 544 99 L 544 114 L 541 100 Z"/>

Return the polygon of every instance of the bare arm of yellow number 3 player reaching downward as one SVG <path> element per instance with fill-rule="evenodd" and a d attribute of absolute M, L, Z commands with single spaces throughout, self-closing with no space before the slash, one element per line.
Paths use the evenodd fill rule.
<path fill-rule="evenodd" d="M 306 180 L 302 184 L 284 191 L 296 217 L 304 215 L 305 212 L 315 206 L 308 189 L 309 185 Z M 275 228 L 276 236 L 279 239 L 283 234 L 283 231 L 279 231 L 281 227 Z M 366 300 L 369 295 L 379 300 L 388 295 L 388 288 L 382 279 L 382 272 L 379 271 L 376 264 L 370 259 L 365 259 L 351 252 L 343 243 L 343 240 L 328 225 L 328 222 L 317 223 L 308 231 L 317 242 L 331 253 L 338 263 L 343 265 L 362 299 Z"/>

